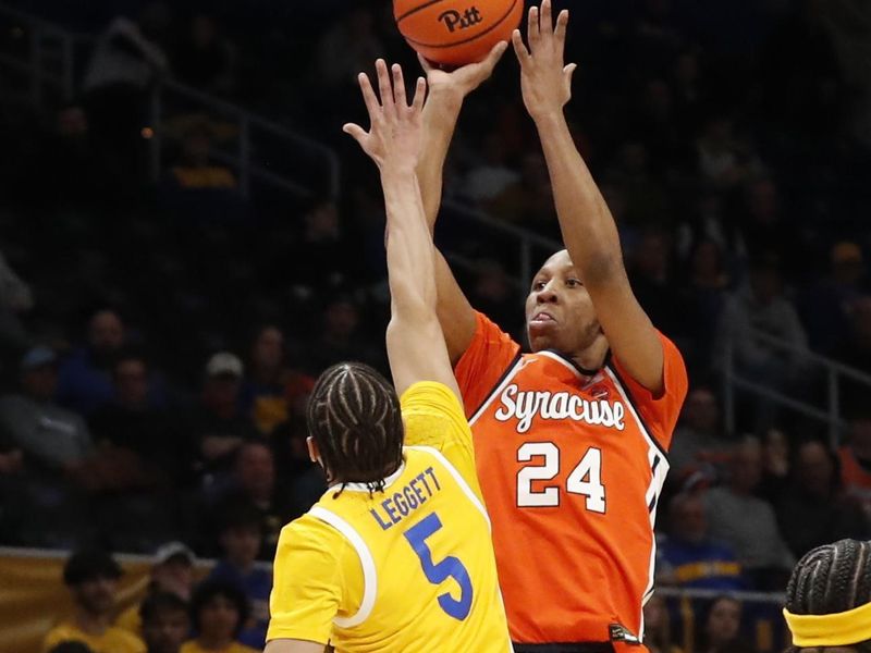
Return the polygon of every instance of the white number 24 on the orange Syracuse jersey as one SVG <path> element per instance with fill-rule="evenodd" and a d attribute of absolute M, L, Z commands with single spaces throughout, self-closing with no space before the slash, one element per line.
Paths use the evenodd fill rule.
<path fill-rule="evenodd" d="M 517 506 L 522 508 L 553 507 L 560 505 L 560 488 L 547 485 L 532 490 L 532 481 L 552 481 L 560 473 L 560 449 L 552 442 L 527 442 L 517 449 L 517 461 L 529 463 L 543 458 L 541 465 L 527 465 L 517 472 Z M 584 454 L 565 482 L 572 494 L 587 497 L 590 513 L 604 514 L 605 486 L 602 484 L 602 449 L 591 446 Z"/>

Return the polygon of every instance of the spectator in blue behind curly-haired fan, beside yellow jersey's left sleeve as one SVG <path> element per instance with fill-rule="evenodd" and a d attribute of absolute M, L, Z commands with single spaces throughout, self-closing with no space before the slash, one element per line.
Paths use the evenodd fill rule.
<path fill-rule="evenodd" d="M 220 533 L 223 557 L 208 577 L 208 580 L 230 583 L 244 592 L 252 613 L 238 640 L 258 650 L 266 644 L 272 591 L 272 574 L 255 566 L 263 539 L 261 528 L 260 512 L 254 506 L 242 504 L 230 509 L 224 515 Z"/>

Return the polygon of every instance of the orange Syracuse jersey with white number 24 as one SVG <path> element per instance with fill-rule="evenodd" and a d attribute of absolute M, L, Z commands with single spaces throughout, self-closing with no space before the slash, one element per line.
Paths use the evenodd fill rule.
<path fill-rule="evenodd" d="M 581 370 L 520 347 L 483 315 L 455 373 L 517 643 L 635 643 L 653 590 L 657 502 L 687 392 L 660 335 L 654 397 L 615 358 Z"/>

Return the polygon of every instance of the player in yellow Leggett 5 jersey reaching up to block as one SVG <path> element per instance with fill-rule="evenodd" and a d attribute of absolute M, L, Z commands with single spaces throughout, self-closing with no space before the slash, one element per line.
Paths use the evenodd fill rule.
<path fill-rule="evenodd" d="M 418 79 L 409 107 L 400 66 L 392 87 L 387 64 L 376 67 L 380 102 L 359 78 L 371 128 L 345 131 L 381 172 L 396 390 L 371 368 L 341 364 L 312 391 L 309 449 L 330 489 L 281 533 L 266 653 L 328 644 L 339 653 L 505 653 L 490 522 L 436 316 L 434 252 L 415 175 L 426 83 Z"/>

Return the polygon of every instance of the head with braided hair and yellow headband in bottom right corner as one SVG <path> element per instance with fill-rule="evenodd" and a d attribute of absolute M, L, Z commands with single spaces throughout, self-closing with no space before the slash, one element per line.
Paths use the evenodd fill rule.
<path fill-rule="evenodd" d="M 871 542 L 841 540 L 802 557 L 786 589 L 797 651 L 871 653 Z"/>

